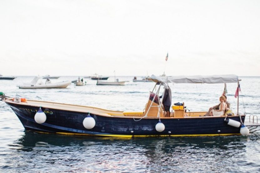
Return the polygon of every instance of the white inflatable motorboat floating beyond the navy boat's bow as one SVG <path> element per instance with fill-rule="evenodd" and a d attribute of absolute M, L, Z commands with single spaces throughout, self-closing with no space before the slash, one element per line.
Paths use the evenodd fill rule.
<path fill-rule="evenodd" d="M 40 76 L 34 77 L 32 82 L 23 83 L 22 85 L 17 85 L 17 87 L 21 89 L 66 88 L 71 84 L 71 81 L 51 83 L 48 78 L 45 82 L 38 82 L 40 78 Z"/>

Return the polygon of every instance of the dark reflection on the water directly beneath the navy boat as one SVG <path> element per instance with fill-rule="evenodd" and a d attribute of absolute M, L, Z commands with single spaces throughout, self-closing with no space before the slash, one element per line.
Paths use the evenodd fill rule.
<path fill-rule="evenodd" d="M 260 139 L 260 137 L 258 137 Z M 29 151 L 37 146 L 86 146 L 92 145 L 118 145 L 142 147 L 143 149 L 160 148 L 168 153 L 168 149 L 188 147 L 191 148 L 219 148 L 233 149 L 244 148 L 243 142 L 247 138 L 243 136 L 201 136 L 201 137 L 151 137 L 151 138 L 119 138 L 119 137 L 101 137 L 101 136 L 68 136 L 57 134 L 37 133 L 33 131 L 24 131 L 24 135 L 15 141 L 18 144 L 17 150 Z M 89 142 L 89 143 L 88 143 Z M 235 148 L 234 148 L 235 147 Z"/>

